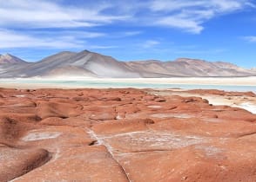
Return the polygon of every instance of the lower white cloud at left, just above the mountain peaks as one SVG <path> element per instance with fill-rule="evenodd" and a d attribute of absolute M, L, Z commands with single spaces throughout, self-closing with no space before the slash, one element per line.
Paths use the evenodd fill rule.
<path fill-rule="evenodd" d="M 38 32 L 37 32 L 38 33 Z M 45 34 L 45 32 L 44 32 Z M 113 46 L 102 46 L 89 44 L 82 38 L 105 36 L 96 32 L 71 31 L 52 33 L 45 36 L 29 36 L 17 31 L 0 29 L 0 49 L 14 48 L 46 48 L 46 49 L 112 49 Z M 82 37 L 82 38 L 81 38 Z"/>

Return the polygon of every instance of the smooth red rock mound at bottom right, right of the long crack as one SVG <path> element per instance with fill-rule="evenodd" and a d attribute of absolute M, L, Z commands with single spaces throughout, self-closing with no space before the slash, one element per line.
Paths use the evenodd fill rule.
<path fill-rule="evenodd" d="M 228 146 L 228 144 L 226 144 Z M 254 181 L 255 145 L 239 143 L 236 153 L 226 146 L 188 146 L 174 151 L 128 153 L 118 161 L 131 181 Z M 242 157 L 241 153 L 247 153 Z"/>

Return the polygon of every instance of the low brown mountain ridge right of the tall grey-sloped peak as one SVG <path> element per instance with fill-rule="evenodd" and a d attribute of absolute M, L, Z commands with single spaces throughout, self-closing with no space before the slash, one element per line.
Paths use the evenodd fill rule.
<path fill-rule="evenodd" d="M 160 62 L 156 60 L 127 62 L 141 75 L 157 74 L 159 77 L 172 76 L 249 76 L 256 75 L 256 71 L 239 68 L 228 62 L 206 62 L 203 60 L 179 58 L 174 62 Z M 149 72 L 149 73 L 148 73 Z M 148 73 L 148 75 L 145 75 Z"/>

